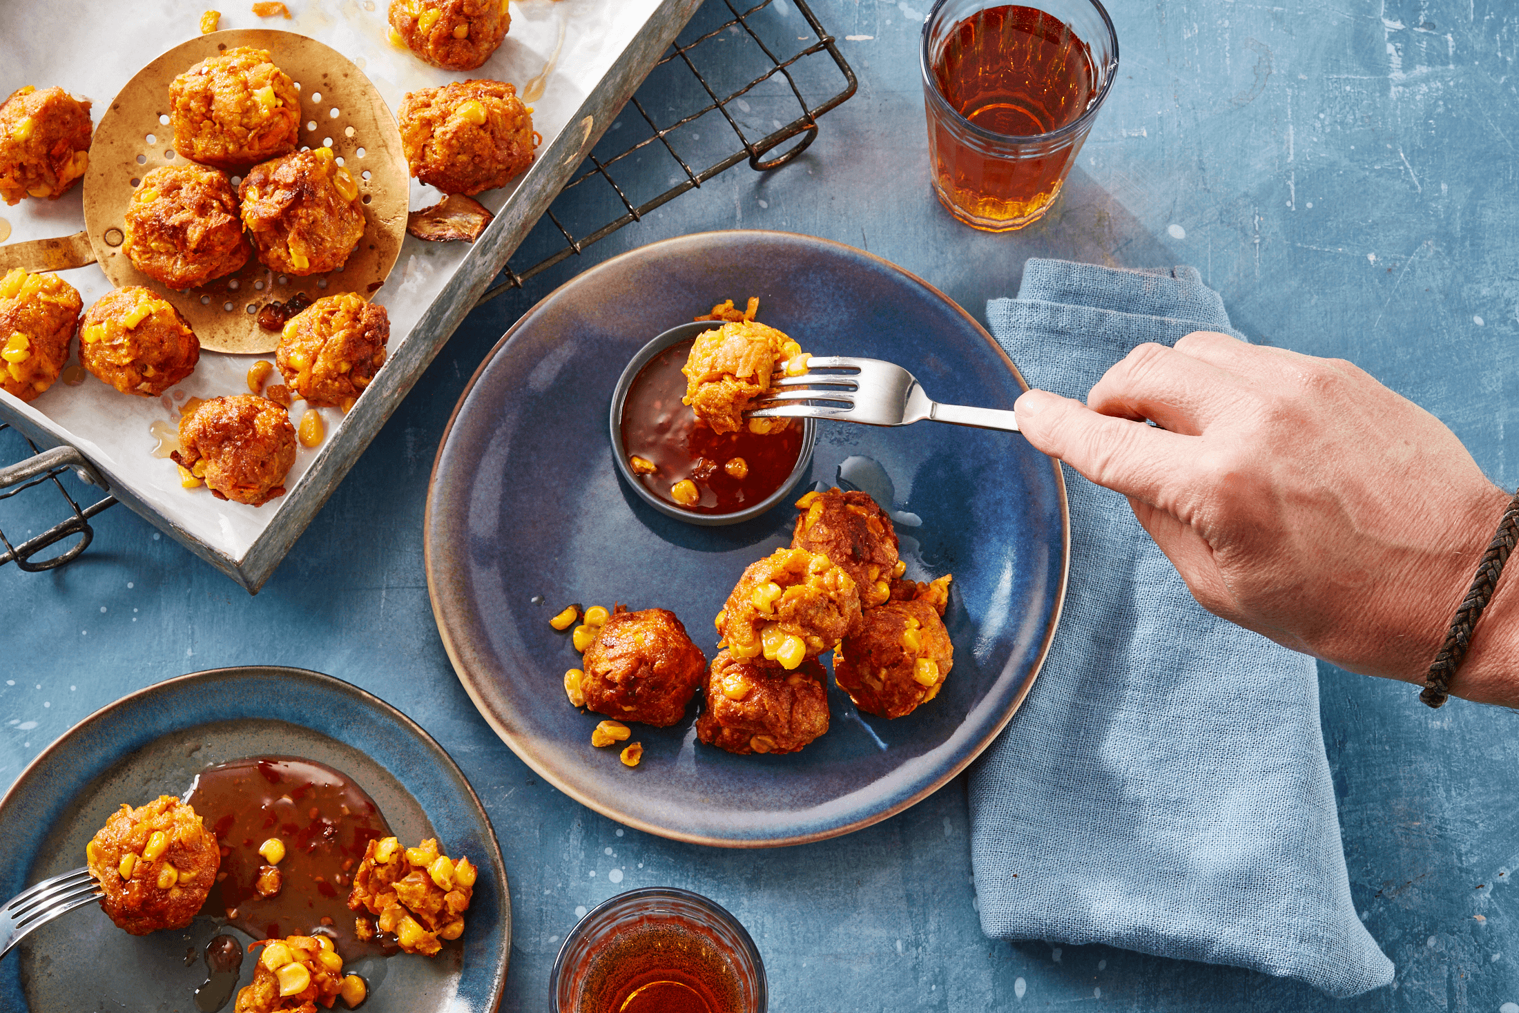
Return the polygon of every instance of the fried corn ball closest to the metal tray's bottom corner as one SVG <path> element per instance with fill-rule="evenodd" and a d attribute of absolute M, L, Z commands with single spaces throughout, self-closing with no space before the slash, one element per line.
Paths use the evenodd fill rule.
<path fill-rule="evenodd" d="M 263 506 L 284 495 L 295 427 L 273 401 L 246 393 L 210 398 L 179 419 L 179 450 L 169 456 L 216 498 Z"/>

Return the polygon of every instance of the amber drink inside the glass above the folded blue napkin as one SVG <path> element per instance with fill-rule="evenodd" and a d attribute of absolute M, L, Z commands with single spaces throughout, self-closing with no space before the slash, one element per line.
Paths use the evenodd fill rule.
<path fill-rule="evenodd" d="M 1097 88 L 1092 50 L 1068 24 L 1012 5 L 958 23 L 934 59 L 933 74 L 960 115 L 1009 141 L 1069 126 Z M 940 190 L 957 214 L 980 222 L 1013 225 L 1042 214 L 1075 156 L 1068 144 L 1030 144 L 1016 156 L 987 153 L 955 137 L 940 118 L 930 117 L 930 129 Z"/>

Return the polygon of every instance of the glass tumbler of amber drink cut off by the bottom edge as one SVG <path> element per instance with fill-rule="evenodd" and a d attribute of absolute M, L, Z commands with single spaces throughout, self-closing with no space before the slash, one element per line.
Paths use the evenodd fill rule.
<path fill-rule="evenodd" d="M 591 908 L 553 970 L 554 1013 L 766 1013 L 764 963 L 738 920 L 700 893 L 629 890 Z"/>

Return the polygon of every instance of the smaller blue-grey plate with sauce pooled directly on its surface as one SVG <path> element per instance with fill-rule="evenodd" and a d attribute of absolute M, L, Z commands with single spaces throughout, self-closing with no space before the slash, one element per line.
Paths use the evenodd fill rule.
<path fill-rule="evenodd" d="M 182 794 L 201 768 L 258 755 L 305 756 L 348 773 L 403 840 L 437 837 L 478 861 L 459 943 L 433 960 L 355 961 L 366 1013 L 494 1010 L 506 984 L 512 902 L 491 822 L 448 753 L 363 690 L 299 668 L 220 668 L 159 682 L 96 711 L 49 746 L 0 800 L 0 896 L 76 869 L 85 843 L 122 802 Z M 477 860 L 478 857 L 478 860 Z M 99 907 L 44 925 L 0 961 L 0 1008 L 194 1010 L 199 958 L 219 928 L 128 936 Z M 238 936 L 242 942 L 251 942 Z M 187 954 L 193 957 L 185 961 Z M 238 987 L 252 981 L 243 960 Z M 223 1007 L 228 1013 L 232 1004 Z M 342 1007 L 337 1007 L 342 1008 Z"/>

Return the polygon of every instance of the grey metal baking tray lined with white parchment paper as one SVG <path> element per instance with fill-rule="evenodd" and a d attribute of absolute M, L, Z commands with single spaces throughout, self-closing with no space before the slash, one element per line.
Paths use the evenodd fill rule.
<path fill-rule="evenodd" d="M 533 166 L 510 187 L 480 194 L 497 217 L 474 245 L 407 237 L 395 269 L 374 296 L 390 314 L 384 369 L 346 416 L 322 410 L 325 440 L 301 450 L 286 481 L 289 492 L 263 507 L 223 503 L 205 489 L 181 489 L 172 462 L 153 457 L 156 440 L 149 433 L 155 421 L 178 419 L 184 396 L 246 392 L 243 375 L 260 357 L 204 352 L 196 374 L 166 399 L 117 395 L 94 378 L 81 386 L 56 383 L 30 404 L 0 392 L 0 421 L 41 447 L 76 448 L 117 500 L 257 592 L 699 5 L 513 2 L 506 43 L 485 67 L 468 74 L 436 70 L 390 46 L 384 0 L 287 0 L 289 20 L 258 18 L 243 3 L 223 11 L 220 29 L 290 30 L 331 46 L 365 70 L 392 115 L 404 93 L 416 88 L 494 77 L 526 91 L 542 74 L 544 94 L 530 103 L 542 135 Z M 91 0 L 50 3 L 46 17 L 39 6 L 6 5 L 0 12 L 0 93 L 26 84 L 56 84 L 91 99 L 99 121 L 138 68 L 199 32 L 204 9 L 204 0 L 161 0 L 134 6 L 131 17 L 118 20 L 100 17 L 100 6 Z M 436 191 L 412 181 L 413 210 L 437 199 Z M 59 200 L 0 208 L 0 219 L 9 226 L 9 241 L 77 232 L 84 228 L 81 188 Z M 109 290 L 99 266 L 61 273 L 79 289 L 87 307 Z M 272 289 L 272 298 L 279 292 Z"/>

